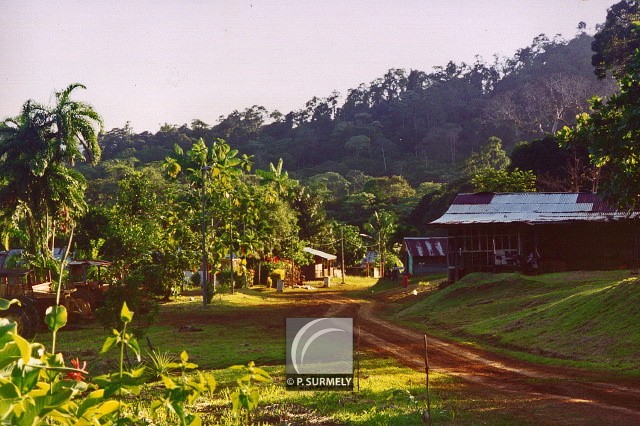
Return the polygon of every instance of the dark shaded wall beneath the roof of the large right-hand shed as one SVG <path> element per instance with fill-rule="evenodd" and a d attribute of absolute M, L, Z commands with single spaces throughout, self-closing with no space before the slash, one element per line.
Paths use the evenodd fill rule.
<path fill-rule="evenodd" d="M 637 268 L 640 226 L 633 223 L 458 225 L 448 228 L 450 279 L 469 272 Z"/>

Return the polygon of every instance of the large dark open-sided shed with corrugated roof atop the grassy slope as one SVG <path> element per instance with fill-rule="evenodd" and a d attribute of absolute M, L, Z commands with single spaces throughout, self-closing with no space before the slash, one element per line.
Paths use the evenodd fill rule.
<path fill-rule="evenodd" d="M 472 271 L 638 267 L 640 212 L 594 193 L 459 194 L 432 225 L 449 236 L 451 279 Z"/>

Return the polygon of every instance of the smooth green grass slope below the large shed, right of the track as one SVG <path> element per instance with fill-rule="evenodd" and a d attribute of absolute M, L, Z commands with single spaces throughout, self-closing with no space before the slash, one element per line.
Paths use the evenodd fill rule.
<path fill-rule="evenodd" d="M 395 317 L 536 361 L 640 374 L 640 279 L 629 271 L 471 274 Z"/>

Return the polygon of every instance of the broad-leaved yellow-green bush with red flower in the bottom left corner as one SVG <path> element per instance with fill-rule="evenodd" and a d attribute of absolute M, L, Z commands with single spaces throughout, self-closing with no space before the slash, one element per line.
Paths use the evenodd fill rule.
<path fill-rule="evenodd" d="M 0 299 L 0 309 L 13 303 L 19 302 Z M 53 347 L 55 332 L 66 318 L 63 306 L 47 311 Z M 68 367 L 62 354 L 48 353 L 44 345 L 26 341 L 6 318 L 0 318 L 0 354 L 0 423 L 88 425 L 116 420 L 121 404 L 106 396 L 104 389 L 85 382 L 85 364 L 81 367 L 76 358 Z"/>

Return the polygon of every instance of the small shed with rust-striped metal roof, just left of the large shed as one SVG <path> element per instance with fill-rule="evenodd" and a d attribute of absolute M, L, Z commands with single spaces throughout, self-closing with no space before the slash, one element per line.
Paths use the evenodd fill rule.
<path fill-rule="evenodd" d="M 447 271 L 447 237 L 407 237 L 403 246 L 404 264 L 411 275 Z"/>

